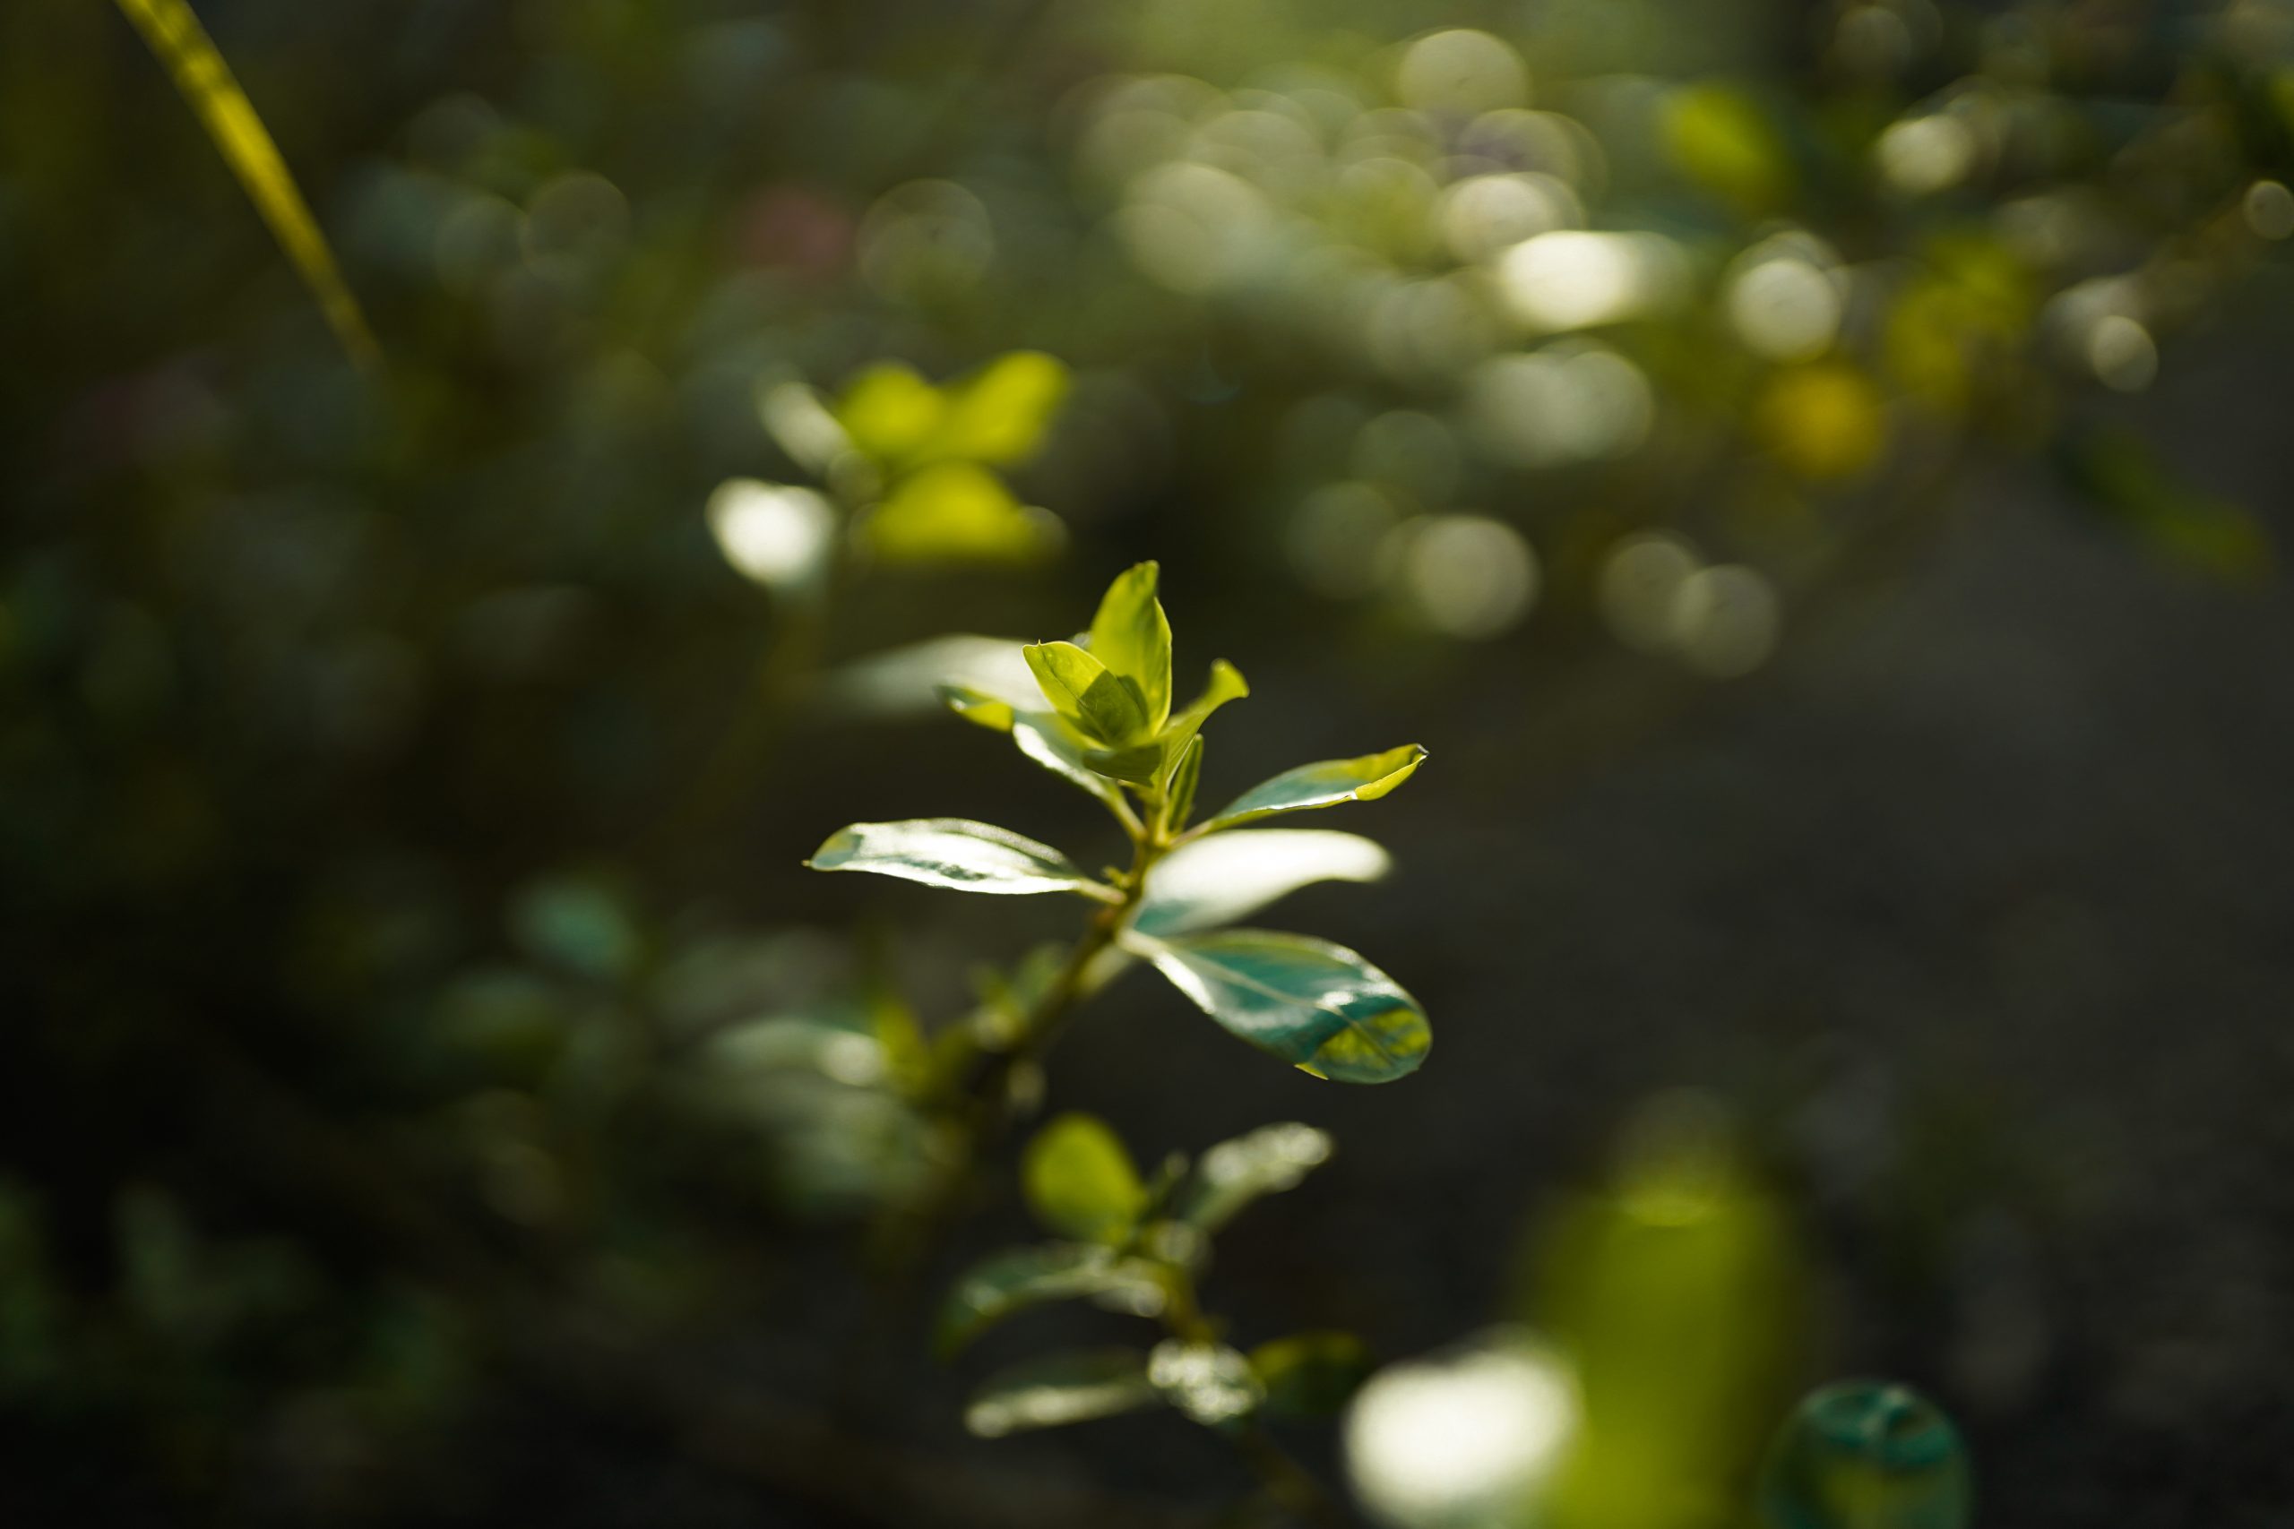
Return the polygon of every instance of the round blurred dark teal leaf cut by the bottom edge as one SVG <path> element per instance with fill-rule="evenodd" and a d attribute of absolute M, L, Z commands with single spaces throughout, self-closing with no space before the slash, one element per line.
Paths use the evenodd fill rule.
<path fill-rule="evenodd" d="M 1769 1529 L 1964 1529 L 1968 1453 L 1943 1410 L 1902 1385 L 1810 1394 L 1776 1435 L 1759 1483 Z"/>

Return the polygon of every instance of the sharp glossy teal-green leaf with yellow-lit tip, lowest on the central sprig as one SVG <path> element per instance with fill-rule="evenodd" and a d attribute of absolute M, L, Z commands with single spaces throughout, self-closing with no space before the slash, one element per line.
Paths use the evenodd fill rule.
<path fill-rule="evenodd" d="M 1317 1077 L 1392 1082 L 1434 1043 L 1418 999 L 1344 944 L 1264 928 L 1142 944 L 1204 1013 Z"/>

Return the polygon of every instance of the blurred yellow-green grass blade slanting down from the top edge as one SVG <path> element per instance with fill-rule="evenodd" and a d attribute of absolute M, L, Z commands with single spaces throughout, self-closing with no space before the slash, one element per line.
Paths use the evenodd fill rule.
<path fill-rule="evenodd" d="M 342 348 L 360 367 L 379 364 L 381 346 L 374 344 L 374 332 L 367 328 L 365 314 L 358 312 L 358 298 L 342 280 L 335 254 L 326 248 L 326 236 L 310 215 L 303 193 L 296 190 L 287 160 L 280 158 L 264 119 L 255 115 L 248 92 L 239 89 L 232 66 L 216 53 L 216 44 L 206 37 L 206 28 L 200 25 L 190 5 L 186 0 L 119 0 L 119 9 L 142 32 L 145 44 L 174 78 L 190 110 L 206 124 L 206 133 L 216 140 L 232 174 L 248 188 L 255 211 L 264 215 L 287 259 L 303 273 L 303 282 L 319 300 L 319 312 L 326 314 Z"/>

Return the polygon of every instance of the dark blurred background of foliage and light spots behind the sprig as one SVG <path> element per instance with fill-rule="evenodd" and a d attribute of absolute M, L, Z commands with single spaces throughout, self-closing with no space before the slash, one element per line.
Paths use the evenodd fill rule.
<path fill-rule="evenodd" d="M 2000 1522 L 2283 1501 L 2294 11 L 200 14 L 383 360 L 122 14 L 0 11 L 0 1515 L 1239 1499 L 1177 1417 L 961 1433 L 920 1295 L 1019 1169 L 872 1275 L 902 1080 L 1062 928 L 798 867 L 1087 841 L 911 644 L 1142 557 L 1257 690 L 1207 800 L 1438 754 L 1298 899 L 1418 1077 L 1138 977 L 1062 1043 L 1142 1165 L 1337 1139 L 1234 1341 L 1528 1323 L 1599 1522 L 1842 1373 Z M 1028 1320 L 986 1369 L 1113 1318 Z"/>

